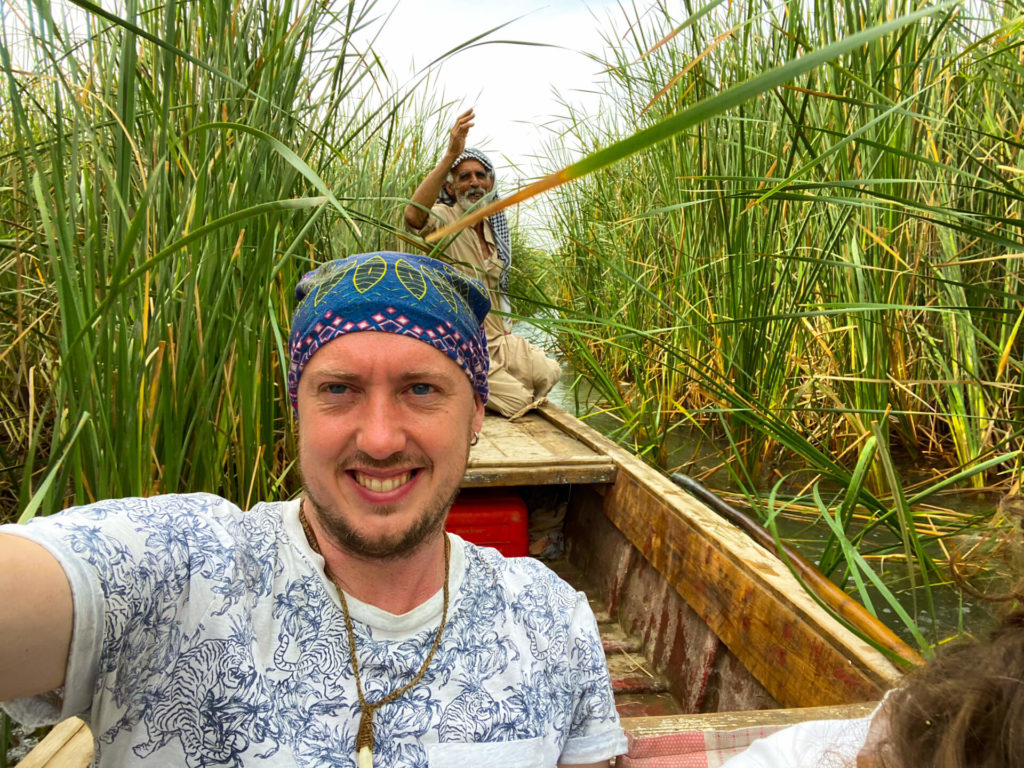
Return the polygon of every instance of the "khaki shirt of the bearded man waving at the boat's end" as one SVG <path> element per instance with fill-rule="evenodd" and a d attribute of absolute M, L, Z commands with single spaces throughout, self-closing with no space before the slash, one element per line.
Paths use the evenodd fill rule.
<path fill-rule="evenodd" d="M 455 206 L 438 203 L 431 209 L 431 214 L 427 216 L 427 223 L 421 228 L 413 229 L 408 224 L 406 228 L 425 237 L 465 215 L 466 209 L 459 203 L 456 203 Z M 498 278 L 502 273 L 502 262 L 498 258 L 498 244 L 495 242 L 495 233 L 486 221 L 483 222 L 483 241 L 486 245 L 486 255 L 480 247 L 480 239 L 477 237 L 476 230 L 469 227 L 455 236 L 454 240 L 445 238 L 438 244 L 439 250 L 430 255 L 442 258 L 466 274 L 476 278 L 486 287 L 487 295 L 490 297 L 490 306 L 494 309 L 503 309 L 506 306 L 506 299 L 498 290 Z M 509 333 L 510 325 L 506 317 L 499 317 L 497 314 L 488 312 L 483 322 L 487 343 L 493 344 L 498 337 Z"/>

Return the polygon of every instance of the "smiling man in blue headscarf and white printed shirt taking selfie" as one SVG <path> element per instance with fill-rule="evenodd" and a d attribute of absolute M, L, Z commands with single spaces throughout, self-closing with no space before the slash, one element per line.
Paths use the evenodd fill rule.
<path fill-rule="evenodd" d="M 586 597 L 443 529 L 487 399 L 482 287 L 376 253 L 296 293 L 302 498 L 0 528 L 0 700 L 83 717 L 97 766 L 606 765 Z"/>

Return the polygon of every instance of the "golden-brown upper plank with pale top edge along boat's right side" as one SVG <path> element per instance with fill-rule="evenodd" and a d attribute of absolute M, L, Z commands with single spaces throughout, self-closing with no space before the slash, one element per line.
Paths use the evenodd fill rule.
<path fill-rule="evenodd" d="M 543 415 L 618 465 L 605 515 L 784 707 L 881 697 L 900 677 L 771 553 L 564 412 Z"/>

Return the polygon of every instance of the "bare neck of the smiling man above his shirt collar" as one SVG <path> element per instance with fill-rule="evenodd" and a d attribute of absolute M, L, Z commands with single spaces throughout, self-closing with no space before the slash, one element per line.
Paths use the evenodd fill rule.
<path fill-rule="evenodd" d="M 444 534 L 438 532 L 412 552 L 379 559 L 354 555 L 327 534 L 308 500 L 302 509 L 316 545 L 346 595 L 388 613 L 400 615 L 429 600 L 444 584 Z"/>

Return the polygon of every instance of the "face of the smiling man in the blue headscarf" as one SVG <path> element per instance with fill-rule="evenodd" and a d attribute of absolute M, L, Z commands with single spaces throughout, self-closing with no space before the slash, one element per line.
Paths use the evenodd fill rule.
<path fill-rule="evenodd" d="M 317 525 L 372 558 L 437 534 L 483 422 L 466 376 L 411 337 L 364 334 L 326 346 L 299 389 L 299 466 Z"/>

